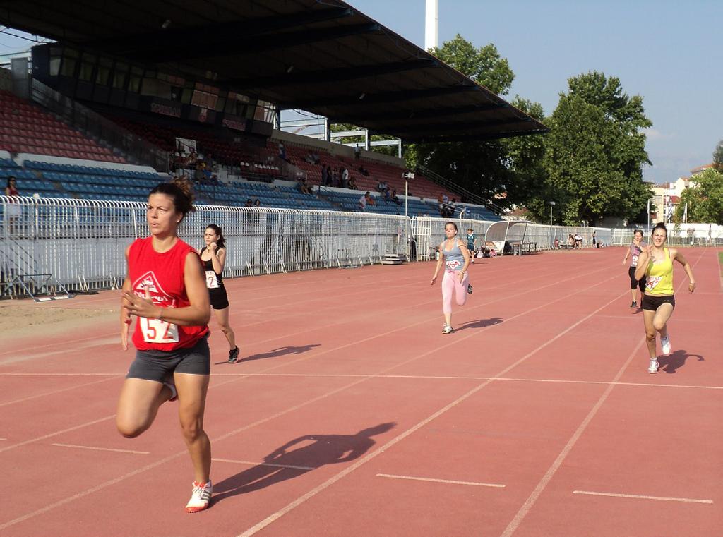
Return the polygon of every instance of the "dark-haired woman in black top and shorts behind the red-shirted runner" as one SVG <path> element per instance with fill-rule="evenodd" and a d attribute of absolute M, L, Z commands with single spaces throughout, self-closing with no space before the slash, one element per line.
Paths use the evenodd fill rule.
<path fill-rule="evenodd" d="M 228 363 L 236 364 L 239 360 L 239 348 L 236 346 L 236 334 L 228 323 L 228 295 L 223 286 L 223 265 L 226 263 L 226 244 L 223 239 L 223 232 L 218 225 L 209 224 L 203 232 L 203 240 L 206 243 L 198 254 L 203 263 L 203 270 L 206 273 L 206 287 L 210 298 L 211 308 L 216 317 L 221 332 L 226 336 L 230 351 L 228 351 Z"/>

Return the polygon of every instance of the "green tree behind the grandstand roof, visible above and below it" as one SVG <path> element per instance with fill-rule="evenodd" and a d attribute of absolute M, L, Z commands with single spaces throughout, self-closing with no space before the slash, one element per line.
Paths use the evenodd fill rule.
<path fill-rule="evenodd" d="M 458 34 L 432 53 L 500 95 L 509 92 L 515 79 L 507 59 L 500 56 L 492 43 L 475 48 Z M 426 166 L 484 199 L 505 192 L 512 179 L 507 147 L 497 140 L 412 144 L 405 148 L 405 158 L 409 167 Z"/>

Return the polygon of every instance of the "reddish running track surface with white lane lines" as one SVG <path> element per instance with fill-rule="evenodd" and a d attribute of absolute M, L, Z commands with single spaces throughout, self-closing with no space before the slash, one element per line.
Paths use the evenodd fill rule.
<path fill-rule="evenodd" d="M 685 249 L 693 295 L 676 264 L 656 375 L 623 254 L 478 260 L 453 335 L 433 262 L 229 280 L 244 360 L 212 320 L 215 489 L 195 515 L 174 403 L 116 432 L 119 292 L 33 305 L 106 313 L 4 334 L 0 535 L 721 536 L 717 252 Z"/>

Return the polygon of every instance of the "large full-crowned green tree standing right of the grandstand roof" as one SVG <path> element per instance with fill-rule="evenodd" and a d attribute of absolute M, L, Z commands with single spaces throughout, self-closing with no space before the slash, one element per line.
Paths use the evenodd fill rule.
<path fill-rule="evenodd" d="M 547 121 L 544 167 L 556 209 L 568 224 L 633 219 L 651 196 L 643 183 L 650 161 L 641 131 L 652 123 L 643 99 L 630 98 L 619 79 L 599 72 L 571 78 L 568 88 Z"/>

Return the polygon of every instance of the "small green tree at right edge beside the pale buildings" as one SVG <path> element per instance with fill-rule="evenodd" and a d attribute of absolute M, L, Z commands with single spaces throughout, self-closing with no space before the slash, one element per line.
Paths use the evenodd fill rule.
<path fill-rule="evenodd" d="M 688 205 L 688 222 L 723 224 L 723 173 L 709 168 L 690 179 L 695 186 L 685 189 L 673 218 L 683 221 Z"/>

